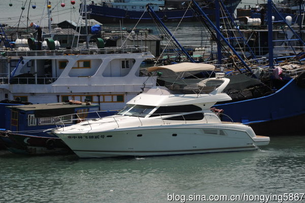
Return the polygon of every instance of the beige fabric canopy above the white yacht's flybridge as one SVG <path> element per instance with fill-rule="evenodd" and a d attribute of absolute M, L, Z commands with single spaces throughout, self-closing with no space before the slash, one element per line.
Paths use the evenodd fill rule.
<path fill-rule="evenodd" d="M 153 72 L 163 69 L 169 69 L 175 73 L 178 73 L 178 72 L 188 72 L 188 71 L 212 71 L 215 69 L 215 66 L 210 64 L 197 64 L 197 63 L 184 62 L 184 63 L 172 64 L 166 66 L 153 66 L 153 67 L 149 67 L 147 70 L 148 72 Z"/>

